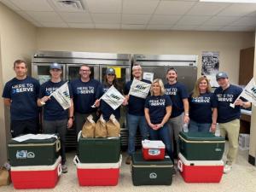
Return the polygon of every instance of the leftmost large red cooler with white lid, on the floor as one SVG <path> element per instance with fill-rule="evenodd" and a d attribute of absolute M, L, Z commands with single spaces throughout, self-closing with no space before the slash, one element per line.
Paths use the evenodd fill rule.
<path fill-rule="evenodd" d="M 11 166 L 10 172 L 15 189 L 55 188 L 61 175 L 61 156 L 52 166 Z"/>

